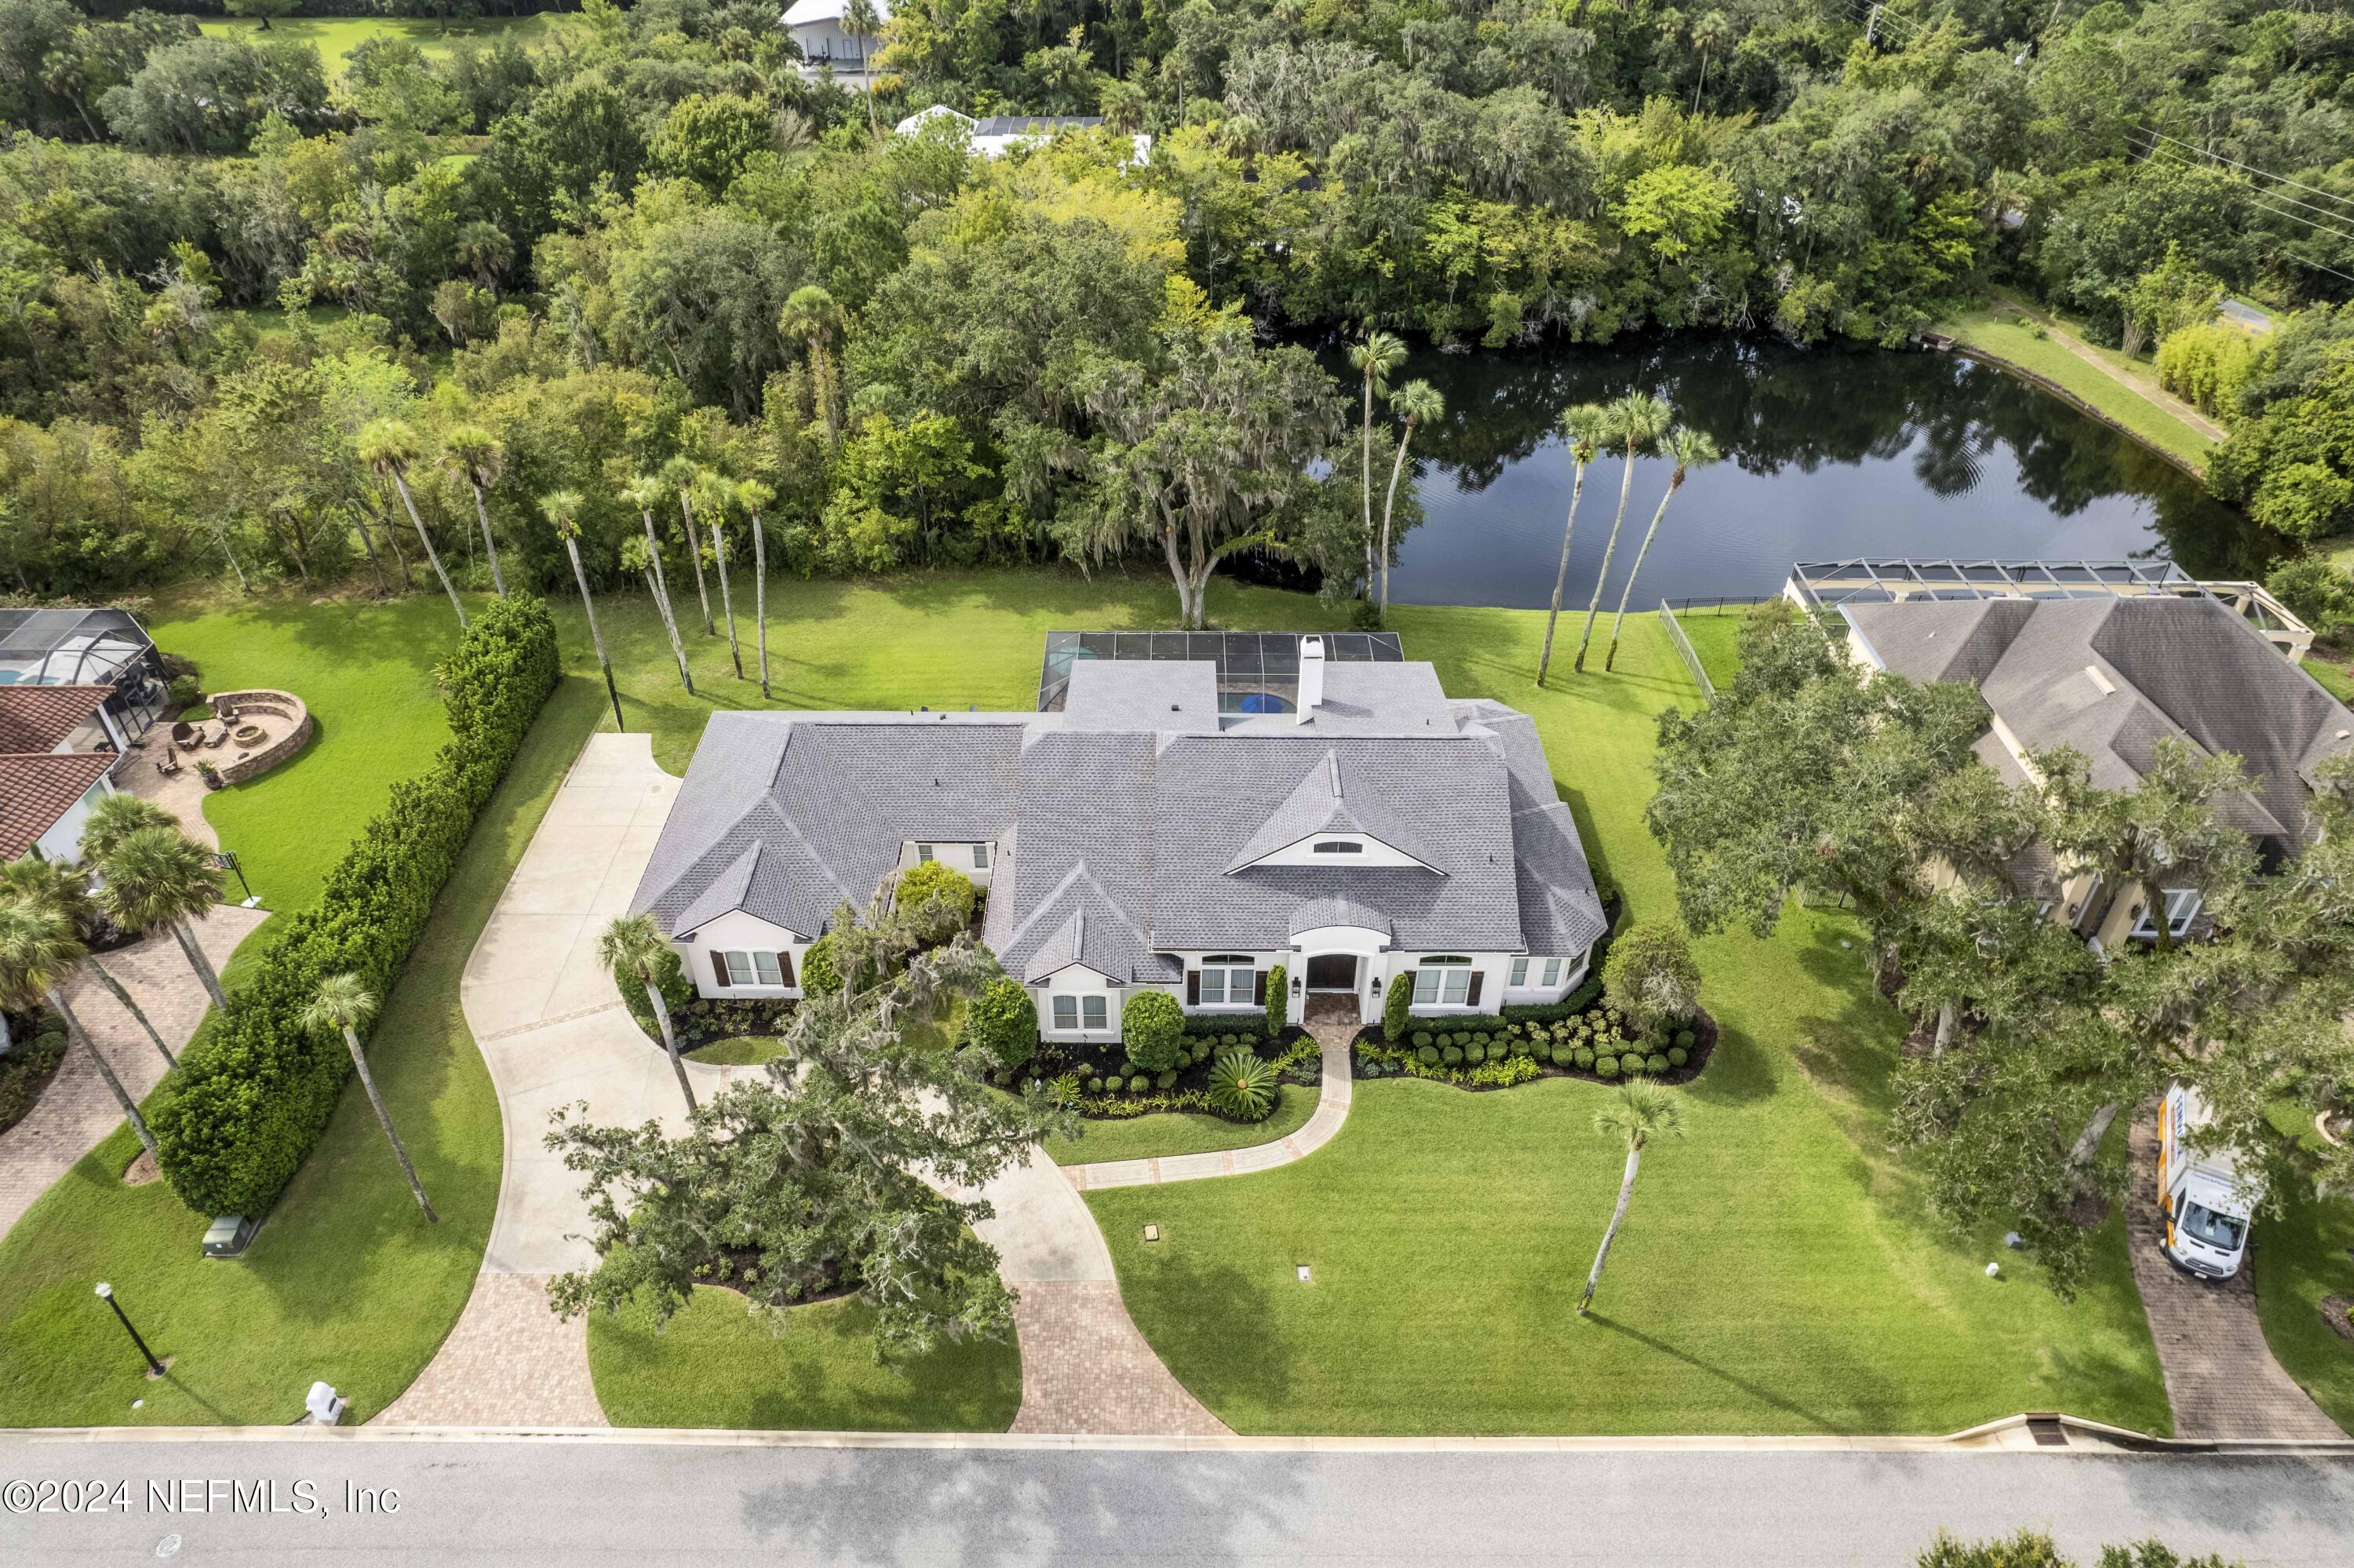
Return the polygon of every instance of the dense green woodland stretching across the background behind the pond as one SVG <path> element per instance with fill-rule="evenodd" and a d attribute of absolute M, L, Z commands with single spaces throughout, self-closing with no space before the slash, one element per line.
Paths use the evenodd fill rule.
<path fill-rule="evenodd" d="M 567 492 L 612 584 L 654 487 L 671 553 L 701 497 L 800 572 L 1139 556 L 1193 610 L 1276 551 L 1351 591 L 1405 405 L 1363 440 L 1283 332 L 1900 341 L 2008 283 L 2126 339 L 2166 268 L 2316 313 L 2354 273 L 2312 217 L 2354 202 L 2335 5 L 909 0 L 880 47 L 869 106 L 765 0 L 337 71 L 0 2 L 0 582 L 391 586 L 426 544 L 553 589 Z M 984 162 L 890 134 L 932 101 L 1109 125 Z M 2225 485 L 2272 466 L 2236 445 Z M 2250 506 L 2335 518 L 2333 464 Z"/>

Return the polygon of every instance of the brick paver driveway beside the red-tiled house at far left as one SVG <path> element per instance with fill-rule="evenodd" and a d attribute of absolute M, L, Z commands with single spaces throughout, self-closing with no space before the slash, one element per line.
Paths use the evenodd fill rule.
<path fill-rule="evenodd" d="M 205 949 L 212 968 L 219 970 L 228 963 L 228 954 L 238 949 L 238 942 L 252 935 L 266 918 L 268 913 L 261 909 L 219 904 L 205 921 L 198 921 L 198 946 Z M 139 998 L 139 1008 L 146 1010 L 155 1031 L 174 1052 L 188 1043 L 188 1036 L 205 1019 L 205 1008 L 210 1005 L 205 982 L 188 968 L 188 956 L 179 951 L 179 942 L 169 932 L 158 932 L 120 951 L 104 954 L 99 963 L 122 982 L 125 991 Z M 89 1029 L 92 1043 L 106 1052 L 115 1076 L 122 1078 L 122 1088 L 132 1092 L 132 1099 L 144 1099 L 162 1078 L 162 1057 L 155 1052 L 155 1043 L 146 1038 L 146 1031 L 139 1029 L 139 1022 L 89 975 L 78 975 L 66 986 L 66 1001 L 73 1005 L 75 1017 L 82 1019 L 82 1026 Z M 89 1052 L 80 1045 L 68 1048 L 66 1062 L 49 1078 L 40 1104 L 26 1111 L 24 1121 L 14 1128 L 0 1132 L 0 1236 L 16 1224 L 24 1210 L 33 1208 L 33 1198 L 49 1191 L 56 1177 L 73 1170 L 75 1161 L 97 1149 L 120 1125 L 122 1107 L 115 1104 L 106 1081 L 99 1078 Z"/>

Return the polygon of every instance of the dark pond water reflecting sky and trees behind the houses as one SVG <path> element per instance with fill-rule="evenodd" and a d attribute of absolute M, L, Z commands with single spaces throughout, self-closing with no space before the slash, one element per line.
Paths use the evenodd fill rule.
<path fill-rule="evenodd" d="M 1335 374 L 1356 391 L 1346 360 Z M 1669 506 L 1634 603 L 1754 596 L 1794 560 L 1846 556 L 2170 558 L 2201 577 L 2262 570 L 2248 523 L 2199 480 L 2001 370 L 1944 353 L 1789 348 L 1728 337 L 1629 346 L 1419 351 L 1448 419 L 1415 436 L 1427 520 L 1398 546 L 1391 598 L 1544 605 L 1570 504 L 1556 421 L 1634 388 L 1667 398 L 1723 461 Z M 1669 464 L 1638 459 L 1605 607 L 1634 565 Z M 1577 509 L 1563 605 L 1594 593 L 1620 461 L 1596 461 Z M 1375 494 L 1379 520 L 1379 494 Z"/>

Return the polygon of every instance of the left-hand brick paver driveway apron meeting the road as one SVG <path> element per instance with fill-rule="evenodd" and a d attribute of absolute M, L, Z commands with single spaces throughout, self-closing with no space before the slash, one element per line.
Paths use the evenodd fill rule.
<path fill-rule="evenodd" d="M 433 1366 L 377 1427 L 607 1427 L 588 1321 L 548 1311 L 546 1274 L 478 1274 Z"/>

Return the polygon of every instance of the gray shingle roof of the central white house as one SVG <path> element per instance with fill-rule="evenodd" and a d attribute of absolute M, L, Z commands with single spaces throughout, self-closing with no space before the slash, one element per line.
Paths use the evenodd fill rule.
<path fill-rule="evenodd" d="M 1205 669 L 1078 666 L 1059 713 L 716 713 L 631 906 L 671 932 L 749 909 L 814 937 L 902 843 L 996 841 L 982 935 L 1024 979 L 1172 979 L 1170 951 L 1283 949 L 1332 923 L 1403 951 L 1577 954 L 1601 935 L 1523 713 L 1450 704 L 1427 664 L 1335 664 L 1311 723 L 1219 727 Z M 1335 826 L 1424 864 L 1248 864 Z"/>

